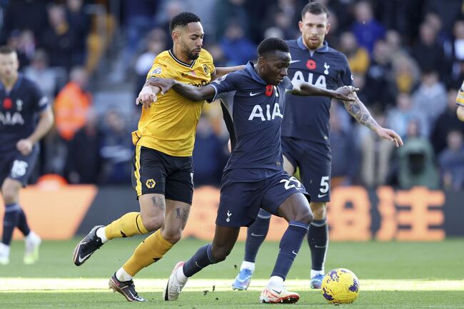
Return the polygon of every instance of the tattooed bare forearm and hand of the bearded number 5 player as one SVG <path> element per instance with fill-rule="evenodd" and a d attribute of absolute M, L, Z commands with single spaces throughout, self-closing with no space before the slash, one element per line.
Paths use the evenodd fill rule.
<path fill-rule="evenodd" d="M 382 128 L 378 125 L 377 121 L 370 115 L 368 108 L 365 107 L 363 102 L 360 101 L 358 95 L 353 92 L 350 94 L 354 101 L 343 101 L 345 108 L 353 118 L 356 119 L 363 126 L 367 126 L 370 130 L 374 131 L 381 138 L 388 139 L 395 143 L 396 147 L 403 146 L 403 140 L 398 133 L 389 128 Z"/>

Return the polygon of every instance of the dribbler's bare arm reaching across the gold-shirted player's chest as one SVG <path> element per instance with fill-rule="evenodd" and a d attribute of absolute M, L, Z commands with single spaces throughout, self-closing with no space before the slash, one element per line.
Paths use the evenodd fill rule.
<path fill-rule="evenodd" d="M 161 94 L 164 94 L 173 88 L 173 90 L 179 93 L 181 96 L 188 98 L 193 102 L 213 98 L 215 94 L 213 86 L 206 85 L 203 87 L 196 87 L 187 85 L 186 83 L 181 83 L 180 81 L 176 81 L 173 78 L 151 77 L 147 79 L 147 83 L 151 86 L 161 88 Z"/>

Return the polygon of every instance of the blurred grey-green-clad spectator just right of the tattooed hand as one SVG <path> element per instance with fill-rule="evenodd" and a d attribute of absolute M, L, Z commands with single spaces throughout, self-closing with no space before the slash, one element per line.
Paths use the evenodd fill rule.
<path fill-rule="evenodd" d="M 401 189 L 425 186 L 438 189 L 439 175 L 435 166 L 433 148 L 427 138 L 419 134 L 419 123 L 412 119 L 408 123 L 408 134 L 404 146 L 398 149 L 398 184 Z"/>

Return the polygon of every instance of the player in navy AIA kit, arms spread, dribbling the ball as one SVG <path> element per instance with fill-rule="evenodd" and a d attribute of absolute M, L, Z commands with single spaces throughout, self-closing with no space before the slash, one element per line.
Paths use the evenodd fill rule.
<path fill-rule="evenodd" d="M 173 80 L 173 88 L 192 101 L 221 98 L 231 136 L 231 158 L 221 180 L 221 199 L 213 243 L 204 245 L 186 262 L 179 262 L 164 291 L 165 300 L 176 300 L 189 277 L 207 265 L 221 262 L 236 243 L 241 226 L 250 226 L 263 207 L 288 221 L 263 303 L 295 303 L 297 293 L 284 288 L 293 260 L 301 248 L 313 214 L 305 188 L 283 171 L 281 122 L 285 93 L 346 98 L 353 87 L 337 91 L 303 81 L 291 82 L 287 69 L 291 56 L 281 39 L 266 39 L 258 46 L 258 63 L 227 74 L 211 85 L 196 88 Z M 155 86 L 161 86 L 156 84 Z M 166 92 L 166 88 L 163 89 Z M 305 197 L 306 196 L 306 197 Z"/>

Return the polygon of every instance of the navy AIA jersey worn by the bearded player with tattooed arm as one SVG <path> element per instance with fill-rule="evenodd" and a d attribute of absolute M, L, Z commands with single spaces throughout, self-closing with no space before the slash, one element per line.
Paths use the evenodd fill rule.
<path fill-rule="evenodd" d="M 303 45 L 301 37 L 286 42 L 292 57 L 288 68 L 291 81 L 306 81 L 332 90 L 343 85 L 352 86 L 353 76 L 346 56 L 329 47 L 327 42 L 313 52 Z M 282 136 L 328 144 L 331 98 L 288 93 L 287 100 Z"/>

